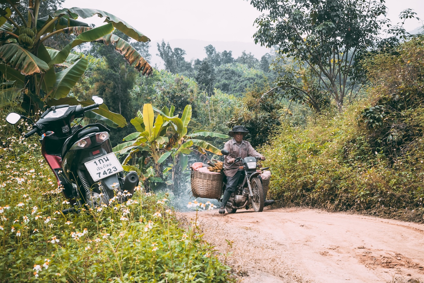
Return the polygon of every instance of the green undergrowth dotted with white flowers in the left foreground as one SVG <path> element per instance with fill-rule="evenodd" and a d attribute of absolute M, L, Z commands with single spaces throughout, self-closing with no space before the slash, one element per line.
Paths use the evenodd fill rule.
<path fill-rule="evenodd" d="M 0 123 L 1 282 L 228 282 L 229 267 L 183 225 L 167 195 L 145 193 L 112 207 L 70 207 L 40 153 Z M 25 124 L 21 124 L 21 129 Z"/>

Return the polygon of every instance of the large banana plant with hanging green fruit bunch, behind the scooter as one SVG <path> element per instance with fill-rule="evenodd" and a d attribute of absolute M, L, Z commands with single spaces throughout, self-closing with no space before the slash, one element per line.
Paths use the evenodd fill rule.
<path fill-rule="evenodd" d="M 71 54 L 72 48 L 84 42 L 100 42 L 113 45 L 130 65 L 149 75 L 153 71 L 146 60 L 125 40 L 112 34 L 117 28 L 137 41 L 150 41 L 141 32 L 123 20 L 105 11 L 95 9 L 66 8 L 38 18 L 41 0 L 28 1 L 28 16 L 17 9 L 20 0 L 0 0 L 0 73 L 3 81 L 14 82 L 13 87 L 21 90 L 16 96 L 24 95 L 27 110 L 36 111 L 45 104 L 54 105 L 62 102 L 73 86 L 83 76 L 87 68 L 87 59 Z M 20 17 L 22 26 L 11 15 Z M 91 28 L 78 21 L 94 15 L 105 18 L 105 25 Z M 62 50 L 55 50 L 44 45 L 44 41 L 55 34 L 74 34 L 76 37 Z M 63 68 L 55 71 L 55 67 Z M 6 88 L 11 89 L 11 88 Z M 3 89 L 5 91 L 5 89 Z M 80 103 L 76 99 L 68 103 Z M 24 105 L 25 106 L 25 105 Z M 123 127 L 125 119 L 107 108 L 100 108 L 92 116 L 108 125 Z"/>

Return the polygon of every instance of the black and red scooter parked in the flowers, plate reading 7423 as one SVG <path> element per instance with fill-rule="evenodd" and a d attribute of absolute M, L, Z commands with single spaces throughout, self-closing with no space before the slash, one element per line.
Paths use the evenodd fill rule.
<path fill-rule="evenodd" d="M 112 151 L 109 140 L 110 130 L 101 124 L 79 124 L 71 127 L 76 118 L 84 117 L 84 112 L 98 109 L 103 99 L 93 96 L 95 104 L 58 105 L 47 109 L 33 124 L 25 138 L 38 133 L 44 136 L 42 155 L 63 187 L 63 194 L 74 206 L 65 209 L 68 213 L 76 211 L 84 204 L 98 207 L 109 205 L 112 201 L 126 201 L 132 197 L 139 178 L 136 172 L 129 172 L 123 178 L 123 167 Z M 16 124 L 21 118 L 18 113 L 9 113 L 6 121 Z M 76 207 L 76 208 L 75 208 Z"/>

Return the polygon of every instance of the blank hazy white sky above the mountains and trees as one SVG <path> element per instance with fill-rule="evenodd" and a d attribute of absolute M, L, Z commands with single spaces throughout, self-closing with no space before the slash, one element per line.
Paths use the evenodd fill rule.
<path fill-rule="evenodd" d="M 386 0 L 388 18 L 398 22 L 400 11 L 413 8 L 424 18 L 423 0 Z M 246 0 L 65 0 L 64 8 L 107 11 L 134 26 L 151 40 L 198 39 L 253 42 L 254 20 L 260 15 Z M 80 19 L 82 20 L 82 19 Z M 84 21 L 84 20 L 82 20 Z M 102 20 L 85 20 L 100 25 Z M 407 31 L 423 25 L 409 19 Z"/>

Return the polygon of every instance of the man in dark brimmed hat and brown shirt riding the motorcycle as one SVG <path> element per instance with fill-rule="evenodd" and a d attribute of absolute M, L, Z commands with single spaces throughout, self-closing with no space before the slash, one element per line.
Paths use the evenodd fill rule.
<path fill-rule="evenodd" d="M 243 137 L 249 133 L 249 130 L 243 126 L 234 126 L 228 135 L 232 136 L 233 139 L 225 143 L 224 149 L 227 150 L 231 155 L 226 155 L 224 157 L 224 173 L 227 176 L 227 185 L 225 192 L 222 197 L 222 204 L 219 209 L 219 213 L 225 213 L 225 206 L 233 192 L 237 188 L 238 181 L 243 172 L 243 169 L 240 169 L 239 164 L 234 163 L 235 158 L 241 157 L 242 159 L 248 156 L 260 157 L 261 160 L 265 160 L 265 156 L 258 153 L 251 146 L 250 142 L 243 140 Z M 266 196 L 265 196 L 266 197 Z M 274 200 L 265 200 L 265 206 L 274 203 Z"/>

